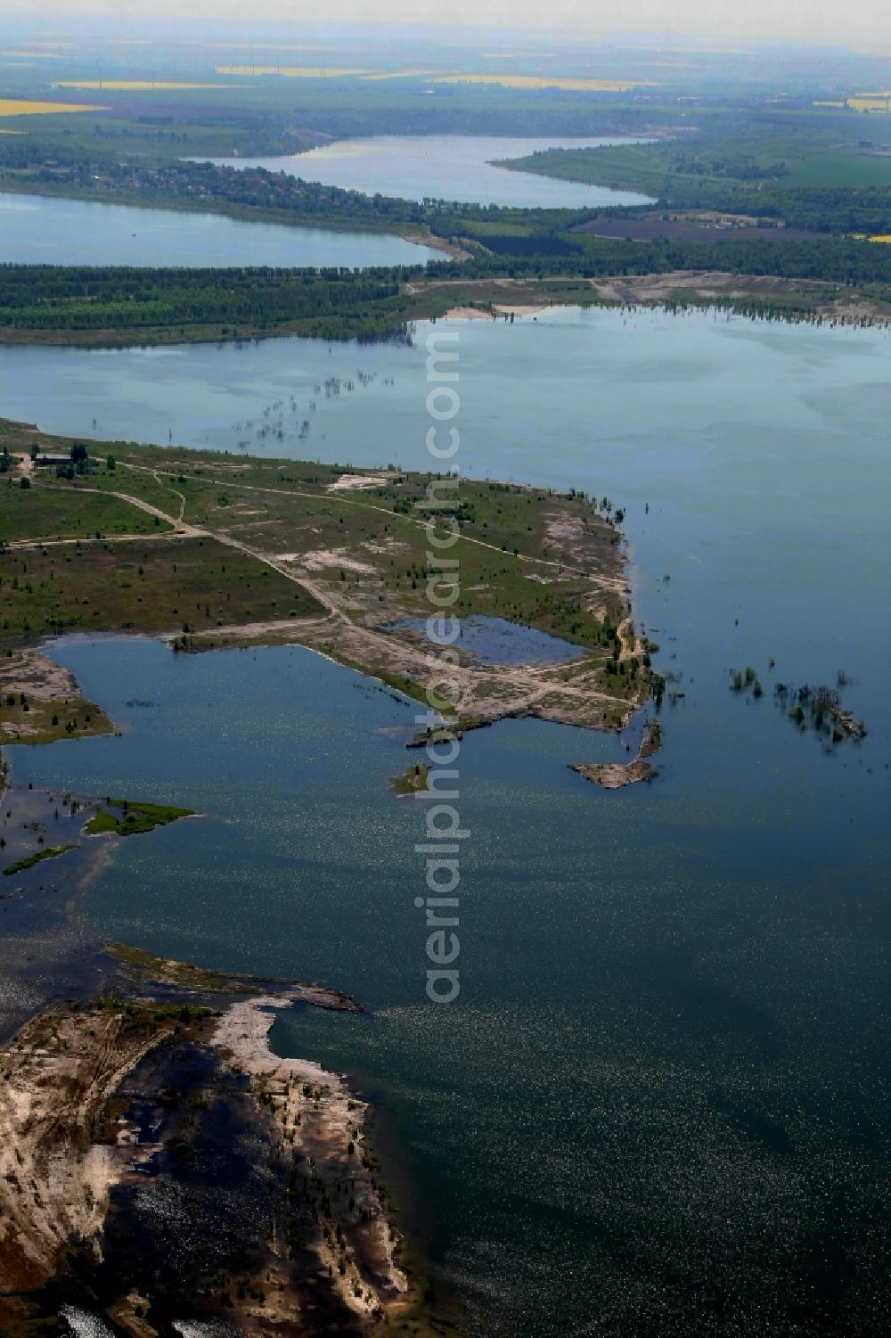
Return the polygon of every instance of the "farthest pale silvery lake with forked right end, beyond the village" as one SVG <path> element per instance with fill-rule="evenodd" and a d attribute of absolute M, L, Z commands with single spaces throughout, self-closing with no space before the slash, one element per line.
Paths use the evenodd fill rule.
<path fill-rule="evenodd" d="M 268 167 L 324 186 L 361 190 L 397 199 L 459 199 L 472 205 L 520 209 L 595 209 L 648 205 L 648 195 L 586 186 L 534 173 L 494 167 L 495 159 L 524 158 L 539 149 L 594 149 L 641 143 L 634 139 L 561 139 L 495 135 L 375 135 L 338 139 L 306 154 L 280 158 L 215 158 L 229 167 Z"/>

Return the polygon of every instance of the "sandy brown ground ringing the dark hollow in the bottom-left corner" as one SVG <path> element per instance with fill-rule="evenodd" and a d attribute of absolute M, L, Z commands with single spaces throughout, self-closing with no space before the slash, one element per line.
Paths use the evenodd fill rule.
<path fill-rule="evenodd" d="M 128 950 L 123 951 L 126 965 Z M 349 1317 L 344 1333 L 377 1333 L 405 1313 L 416 1293 L 396 1262 L 400 1239 L 365 1144 L 365 1103 L 338 1074 L 312 1060 L 278 1058 L 269 1049 L 278 1009 L 294 1002 L 340 1012 L 360 1012 L 359 1006 L 313 985 L 245 997 L 238 991 L 249 986 L 241 979 L 217 978 L 182 962 L 147 957 L 143 962 L 139 953 L 130 965 L 140 967 L 143 985 L 148 977 L 170 981 L 169 1002 L 158 1005 L 154 991 L 143 993 L 136 970 L 132 1002 L 47 1008 L 0 1050 L 0 1333 L 27 1322 L 43 1305 L 43 1288 L 67 1271 L 72 1242 L 84 1266 L 100 1276 L 112 1187 L 120 1185 L 112 1216 L 140 1230 L 140 1199 L 127 1196 L 140 1184 L 139 1165 L 171 1137 L 178 1147 L 199 1137 L 197 1121 L 213 1108 L 214 1093 L 219 1100 L 229 1092 L 222 1098 L 233 1101 L 231 1119 L 243 1120 L 238 1101 L 243 1103 L 245 1077 L 252 1137 L 260 1140 L 254 1156 L 278 1179 L 280 1207 L 262 1263 L 241 1291 L 237 1317 L 231 1311 L 238 1331 L 310 1331 L 308 1317 L 312 1322 L 324 1314 L 337 1326 Z M 185 983 L 174 986 L 175 981 Z M 218 1078 L 206 1069 L 207 1060 L 199 1060 L 209 1046 L 218 1053 Z M 171 1116 L 157 1143 L 138 1141 L 136 1127 L 122 1112 L 134 1098 L 158 1103 L 159 1123 L 153 1129 L 159 1129 L 170 1111 L 175 1065 L 191 1062 L 183 1061 L 190 1048 L 203 1076 L 198 1089 L 178 1094 L 185 1117 Z M 136 1070 L 150 1053 L 148 1066 Z M 201 1155 L 199 1147 L 193 1145 L 193 1155 Z M 162 1175 L 189 1192 L 187 1177 L 181 1183 L 175 1165 Z M 136 1295 L 134 1302 L 132 1295 L 116 1295 L 114 1275 L 98 1286 L 102 1314 L 114 1313 L 127 1333 L 159 1331 L 144 1321 L 139 1330 L 131 1323 L 135 1302 L 144 1315 L 150 1298 Z"/>

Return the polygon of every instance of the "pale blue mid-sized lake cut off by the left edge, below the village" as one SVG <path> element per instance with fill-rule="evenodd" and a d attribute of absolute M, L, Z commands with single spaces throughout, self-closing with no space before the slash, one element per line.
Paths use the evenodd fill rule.
<path fill-rule="evenodd" d="M 387 233 L 253 223 L 222 214 L 0 191 L 0 264 L 423 265 L 443 253 Z"/>

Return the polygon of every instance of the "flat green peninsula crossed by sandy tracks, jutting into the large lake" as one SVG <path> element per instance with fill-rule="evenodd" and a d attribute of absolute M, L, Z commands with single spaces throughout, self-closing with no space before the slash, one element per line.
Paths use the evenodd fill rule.
<path fill-rule="evenodd" d="M 649 697 L 609 498 L 470 479 L 443 490 L 392 467 L 75 443 L 8 421 L 0 451 L 5 741 L 112 728 L 39 649 L 72 632 L 146 633 L 190 653 L 300 644 L 427 702 L 431 515 L 454 518 L 460 618 L 573 652 L 490 664 L 459 642 L 458 728 L 539 716 L 618 731 Z"/>

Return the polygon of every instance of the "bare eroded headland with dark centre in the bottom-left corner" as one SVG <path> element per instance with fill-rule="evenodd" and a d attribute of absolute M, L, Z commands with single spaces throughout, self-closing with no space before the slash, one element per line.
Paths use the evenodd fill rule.
<path fill-rule="evenodd" d="M 355 1005 L 139 974 L 153 997 L 50 1008 L 0 1052 L 0 1330 L 67 1333 L 71 1306 L 134 1338 L 364 1335 L 407 1314 L 365 1104 L 266 1044 L 273 1008 Z"/>

